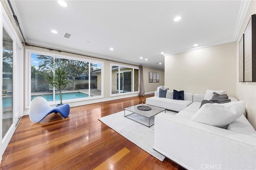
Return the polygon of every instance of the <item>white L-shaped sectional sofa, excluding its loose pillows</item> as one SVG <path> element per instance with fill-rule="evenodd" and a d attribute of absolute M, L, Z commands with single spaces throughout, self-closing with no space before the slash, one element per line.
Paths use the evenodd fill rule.
<path fill-rule="evenodd" d="M 189 93 L 189 97 L 185 96 L 190 103 L 175 103 L 172 99 L 157 96 L 146 100 L 149 105 L 180 111 L 176 115 L 156 115 L 154 150 L 189 170 L 255 170 L 256 131 L 246 117 L 242 115 L 226 129 L 192 121 L 204 95 L 194 94 L 192 100 Z M 232 97 L 229 99 L 237 101 Z"/>

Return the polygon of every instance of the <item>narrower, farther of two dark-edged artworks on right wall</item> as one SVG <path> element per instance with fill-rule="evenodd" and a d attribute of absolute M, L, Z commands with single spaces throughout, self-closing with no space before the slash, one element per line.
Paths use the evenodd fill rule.
<path fill-rule="evenodd" d="M 239 81 L 244 82 L 244 34 L 239 42 Z"/>

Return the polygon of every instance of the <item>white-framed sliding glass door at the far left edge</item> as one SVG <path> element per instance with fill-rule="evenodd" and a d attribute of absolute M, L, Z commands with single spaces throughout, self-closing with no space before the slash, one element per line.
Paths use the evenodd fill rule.
<path fill-rule="evenodd" d="M 23 115 L 23 53 L 18 34 L 0 5 L 0 160 Z"/>

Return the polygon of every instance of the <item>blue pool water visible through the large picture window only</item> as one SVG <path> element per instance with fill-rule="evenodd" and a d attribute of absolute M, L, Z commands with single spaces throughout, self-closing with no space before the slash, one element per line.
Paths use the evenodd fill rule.
<path fill-rule="evenodd" d="M 31 96 L 31 101 L 36 98 L 36 97 L 44 97 L 44 99 L 46 99 L 47 101 L 53 101 L 53 94 L 49 94 L 49 95 L 34 95 Z M 81 93 L 81 92 L 74 92 L 74 93 L 61 93 L 61 97 L 62 100 L 67 100 L 67 99 L 76 99 L 76 98 L 82 98 L 82 97 L 89 97 L 87 94 L 85 93 Z M 55 101 L 60 100 L 60 94 L 55 94 Z"/>

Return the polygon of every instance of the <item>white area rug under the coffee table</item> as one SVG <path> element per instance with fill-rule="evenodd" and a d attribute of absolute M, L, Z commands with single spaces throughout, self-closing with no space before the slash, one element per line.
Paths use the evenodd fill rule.
<path fill-rule="evenodd" d="M 169 112 L 169 111 L 166 111 Z M 150 128 L 124 117 L 124 111 L 114 113 L 99 119 L 158 160 L 163 161 L 165 156 L 153 150 L 154 125 Z"/>

